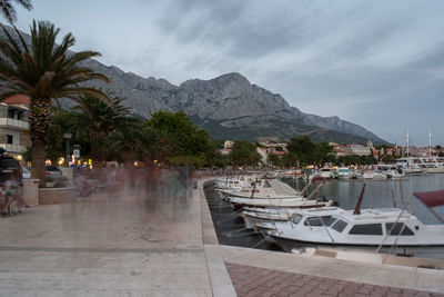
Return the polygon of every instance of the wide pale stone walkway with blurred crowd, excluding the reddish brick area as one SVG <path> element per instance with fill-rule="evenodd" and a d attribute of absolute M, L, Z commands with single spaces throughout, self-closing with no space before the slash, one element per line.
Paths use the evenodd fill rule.
<path fill-rule="evenodd" d="M 235 296 L 174 175 L 0 219 L 0 296 Z"/>

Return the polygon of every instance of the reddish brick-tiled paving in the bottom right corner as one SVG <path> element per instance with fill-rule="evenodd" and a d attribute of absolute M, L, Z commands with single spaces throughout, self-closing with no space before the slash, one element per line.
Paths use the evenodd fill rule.
<path fill-rule="evenodd" d="M 444 294 L 383 287 L 225 263 L 240 297 L 246 296 L 441 296 Z"/>

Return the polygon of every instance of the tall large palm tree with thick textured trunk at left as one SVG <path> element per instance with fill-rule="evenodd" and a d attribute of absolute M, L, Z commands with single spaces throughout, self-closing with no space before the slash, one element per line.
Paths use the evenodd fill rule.
<path fill-rule="evenodd" d="M 32 141 L 32 177 L 44 181 L 44 150 L 48 127 L 51 123 L 51 99 L 69 98 L 83 105 L 80 95 L 91 95 L 112 105 L 102 91 L 84 87 L 82 82 L 93 79 L 109 81 L 103 75 L 79 63 L 100 56 L 95 51 L 69 52 L 75 42 L 71 33 L 56 44 L 60 29 L 52 23 L 33 21 L 31 47 L 19 33 L 17 41 L 6 28 L 6 40 L 0 40 L 0 101 L 13 95 L 30 98 L 29 120 Z"/>

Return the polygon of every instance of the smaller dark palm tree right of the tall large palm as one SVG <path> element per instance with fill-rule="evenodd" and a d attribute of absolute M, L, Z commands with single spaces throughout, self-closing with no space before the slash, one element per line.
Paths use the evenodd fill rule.
<path fill-rule="evenodd" d="M 94 172 L 100 175 L 102 164 L 105 161 L 105 142 L 110 132 L 132 127 L 134 119 L 130 108 L 122 105 L 125 98 L 111 97 L 112 106 L 93 96 L 81 96 L 83 105 L 72 108 L 70 123 L 74 132 L 89 135 L 91 143 L 91 157 Z"/>

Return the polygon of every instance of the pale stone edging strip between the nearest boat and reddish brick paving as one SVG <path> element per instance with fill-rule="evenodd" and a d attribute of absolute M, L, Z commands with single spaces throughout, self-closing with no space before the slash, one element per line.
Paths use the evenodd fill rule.
<path fill-rule="evenodd" d="M 397 289 L 444 293 L 444 271 L 221 246 L 226 264 Z M 231 274 L 231 270 L 230 270 Z M 233 277 L 233 275 L 232 275 Z M 254 279 L 254 278 L 251 278 Z M 235 279 L 234 286 L 238 288 Z M 291 284 L 287 284 L 291 286 Z"/>

